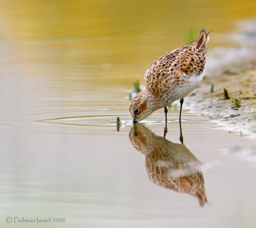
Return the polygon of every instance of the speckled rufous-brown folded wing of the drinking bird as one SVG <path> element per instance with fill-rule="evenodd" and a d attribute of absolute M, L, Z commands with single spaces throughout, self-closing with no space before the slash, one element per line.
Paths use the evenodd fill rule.
<path fill-rule="evenodd" d="M 195 45 L 180 47 L 163 54 L 150 65 L 145 72 L 145 86 L 150 93 L 159 97 L 179 80 L 186 80 L 186 75 L 203 73 L 204 66 L 205 49 L 196 49 Z"/>

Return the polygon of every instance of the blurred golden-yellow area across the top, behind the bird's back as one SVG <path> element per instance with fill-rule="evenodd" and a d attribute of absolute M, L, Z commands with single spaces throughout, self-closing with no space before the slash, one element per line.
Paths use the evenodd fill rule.
<path fill-rule="evenodd" d="M 25 74 L 66 82 L 132 86 L 159 55 L 191 31 L 234 29 L 255 17 L 256 1 L 1 1 L 1 40 Z M 3 43 L 2 43 L 3 45 Z M 36 70 L 38 69 L 38 70 Z M 42 70 L 43 69 L 43 70 Z"/>

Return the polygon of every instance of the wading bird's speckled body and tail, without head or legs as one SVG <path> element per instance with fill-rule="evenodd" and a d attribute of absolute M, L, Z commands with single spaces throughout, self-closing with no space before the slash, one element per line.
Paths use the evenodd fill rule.
<path fill-rule="evenodd" d="M 147 90 L 161 102 L 170 103 L 172 98 L 179 99 L 195 89 L 204 77 L 208 40 L 209 35 L 202 29 L 195 41 L 157 58 L 145 72 Z"/>

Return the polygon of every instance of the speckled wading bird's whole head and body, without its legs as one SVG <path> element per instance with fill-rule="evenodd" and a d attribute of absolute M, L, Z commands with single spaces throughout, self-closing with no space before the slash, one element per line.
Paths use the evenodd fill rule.
<path fill-rule="evenodd" d="M 207 42 L 209 34 L 202 29 L 194 42 L 163 54 L 150 65 L 145 72 L 145 90 L 130 105 L 135 121 L 147 118 L 195 89 L 204 77 Z M 141 109 L 142 105 L 146 108 Z"/>

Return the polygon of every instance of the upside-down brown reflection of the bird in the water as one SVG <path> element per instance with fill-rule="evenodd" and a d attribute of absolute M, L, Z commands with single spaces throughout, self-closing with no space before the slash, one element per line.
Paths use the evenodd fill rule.
<path fill-rule="evenodd" d="M 200 206 L 204 206 L 207 197 L 204 176 L 200 172 L 202 163 L 183 145 L 181 126 L 182 144 L 170 142 L 140 123 L 134 123 L 129 137 L 134 148 L 145 155 L 145 167 L 152 182 L 193 195 Z"/>

